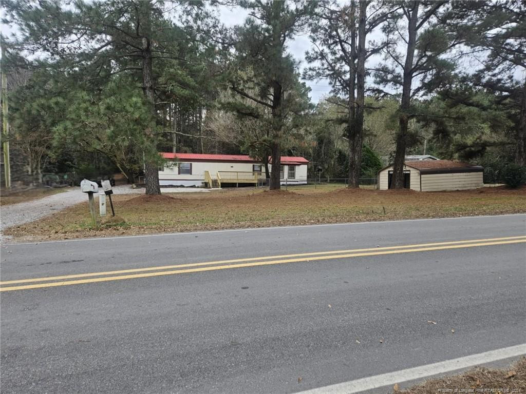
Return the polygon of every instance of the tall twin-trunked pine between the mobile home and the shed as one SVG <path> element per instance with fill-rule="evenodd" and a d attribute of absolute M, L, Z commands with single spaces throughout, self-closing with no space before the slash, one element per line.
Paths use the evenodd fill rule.
<path fill-rule="evenodd" d="M 397 11 L 392 4 L 371 1 L 322 2 L 312 19 L 311 40 L 315 49 L 307 53 L 309 79 L 328 78 L 332 93 L 345 100 L 349 149 L 349 188 L 358 188 L 361 174 L 363 119 L 365 113 L 366 61 L 389 43 L 367 43 L 367 36 Z M 370 7 L 370 8 L 369 8 Z M 369 9 L 368 9 L 369 8 Z"/>

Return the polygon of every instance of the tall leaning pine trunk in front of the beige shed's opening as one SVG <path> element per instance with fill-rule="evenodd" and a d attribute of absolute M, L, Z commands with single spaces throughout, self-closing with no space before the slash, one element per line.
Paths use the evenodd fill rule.
<path fill-rule="evenodd" d="M 411 82 L 413 79 L 414 50 L 417 43 L 417 20 L 418 1 L 413 2 L 411 17 L 408 25 L 408 44 L 406 52 L 406 63 L 403 67 L 402 100 L 400 104 L 400 116 L 398 119 L 398 132 L 396 136 L 395 163 L 393 163 L 393 189 L 403 189 L 403 163 L 406 158 L 407 131 L 409 124 L 409 110 L 411 106 Z"/>

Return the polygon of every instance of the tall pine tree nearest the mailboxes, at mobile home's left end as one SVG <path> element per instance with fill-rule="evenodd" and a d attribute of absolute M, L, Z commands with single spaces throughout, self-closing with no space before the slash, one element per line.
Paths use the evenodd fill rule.
<path fill-rule="evenodd" d="M 168 3 L 180 8 L 187 25 L 208 26 L 209 14 L 203 3 Z M 140 84 L 150 107 L 143 145 L 147 194 L 160 193 L 156 70 L 161 62 L 185 60 L 179 57 L 184 44 L 174 40 L 178 27 L 165 18 L 164 5 L 153 0 L 78 1 L 68 7 L 62 2 L 5 2 L 8 18 L 22 33 L 22 40 L 12 45 L 28 52 L 44 52 L 77 87 L 100 89 L 116 74 L 129 75 Z M 183 43 L 184 39 L 196 39 L 196 35 L 199 32 L 183 36 Z"/>

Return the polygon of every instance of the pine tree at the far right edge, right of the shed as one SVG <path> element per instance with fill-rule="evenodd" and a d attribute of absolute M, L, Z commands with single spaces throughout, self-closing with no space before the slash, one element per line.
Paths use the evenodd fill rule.
<path fill-rule="evenodd" d="M 514 160 L 526 166 L 526 3 L 456 2 L 441 22 L 458 32 L 468 55 L 482 58 L 483 66 L 467 82 L 495 94 L 509 113 L 514 123 Z"/>

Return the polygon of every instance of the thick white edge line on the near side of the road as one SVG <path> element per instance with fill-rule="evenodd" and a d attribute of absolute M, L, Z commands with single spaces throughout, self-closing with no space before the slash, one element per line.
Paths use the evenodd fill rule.
<path fill-rule="evenodd" d="M 444 374 L 458 369 L 470 368 L 487 362 L 518 357 L 524 354 L 526 354 L 526 344 L 521 344 L 497 350 L 485 351 L 471 356 L 454 358 L 452 360 L 435 362 L 434 364 L 422 365 L 420 367 L 402 369 L 396 372 L 389 372 L 388 374 L 376 375 L 368 378 L 338 383 L 336 385 L 300 391 L 297 394 L 352 394 L 380 387 L 392 386 L 395 385 L 395 383 Z"/>

